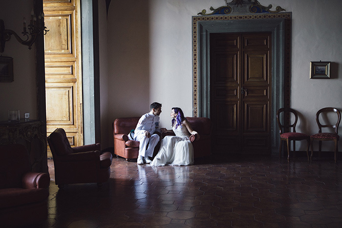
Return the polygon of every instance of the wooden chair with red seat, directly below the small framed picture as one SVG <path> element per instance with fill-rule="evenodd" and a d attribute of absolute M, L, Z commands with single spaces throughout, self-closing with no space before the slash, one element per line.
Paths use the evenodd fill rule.
<path fill-rule="evenodd" d="M 320 115 L 321 118 L 324 115 L 323 113 L 335 112 L 337 115 L 337 122 L 336 124 L 321 124 L 320 121 Z M 327 117 L 327 116 L 326 116 Z M 327 117 L 328 118 L 328 117 Z M 340 136 L 338 135 L 338 128 L 341 122 L 341 112 L 339 109 L 333 108 L 333 107 L 326 107 L 320 109 L 316 113 L 316 122 L 318 125 L 318 133 L 310 136 L 310 144 L 311 144 L 311 156 L 310 159 L 312 159 L 312 155 L 314 153 L 314 147 L 313 147 L 313 141 L 317 140 L 319 141 L 319 157 L 321 157 L 321 149 L 322 149 L 322 141 L 334 141 L 335 143 L 335 162 L 337 161 L 337 152 L 339 151 L 338 147 L 338 141 L 340 140 Z M 335 129 L 335 132 L 329 133 L 329 132 L 322 132 L 322 128 L 332 128 Z"/>

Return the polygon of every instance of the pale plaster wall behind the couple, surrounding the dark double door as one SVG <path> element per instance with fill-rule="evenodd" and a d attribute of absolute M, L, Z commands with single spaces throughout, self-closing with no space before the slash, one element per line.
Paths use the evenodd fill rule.
<path fill-rule="evenodd" d="M 342 110 L 341 3 L 259 2 L 293 13 L 291 107 L 301 118 L 297 131 L 317 133 L 317 110 L 326 106 Z M 192 16 L 222 5 L 223 0 L 111 1 L 107 20 L 108 126 L 115 118 L 148 112 L 154 101 L 163 104 L 161 126 L 170 128 L 172 106 L 192 116 Z M 332 62 L 331 79 L 309 78 L 310 61 L 320 60 Z M 109 146 L 111 134 L 109 129 Z M 299 149 L 304 150 L 303 146 Z"/>

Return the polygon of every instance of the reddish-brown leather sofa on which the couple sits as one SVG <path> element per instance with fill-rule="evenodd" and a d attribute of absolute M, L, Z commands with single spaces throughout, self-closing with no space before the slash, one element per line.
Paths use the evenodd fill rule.
<path fill-rule="evenodd" d="M 114 154 L 127 161 L 138 158 L 139 142 L 129 140 L 128 133 L 138 124 L 140 117 L 118 118 L 113 124 Z M 193 130 L 200 135 L 199 140 L 190 137 L 194 149 L 194 158 L 206 157 L 211 155 L 211 120 L 204 117 L 187 117 Z M 164 137 L 165 135 L 162 135 Z M 155 147 L 154 155 L 158 152 L 159 144 Z"/>

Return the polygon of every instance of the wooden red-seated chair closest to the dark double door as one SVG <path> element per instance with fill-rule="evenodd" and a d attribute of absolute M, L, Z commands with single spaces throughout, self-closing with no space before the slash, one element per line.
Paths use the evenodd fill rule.
<path fill-rule="evenodd" d="M 280 113 L 283 113 L 284 116 L 287 114 L 293 113 L 293 115 L 295 117 L 293 124 L 281 124 Z M 283 141 L 286 141 L 287 161 L 289 161 L 291 141 L 293 141 L 293 155 L 295 156 L 296 141 L 306 140 L 307 141 L 306 155 L 307 155 L 307 158 L 309 160 L 310 136 L 307 134 L 304 134 L 304 133 L 296 132 L 296 125 L 298 122 L 297 111 L 292 109 L 292 108 L 280 108 L 277 112 L 277 122 L 279 125 L 279 133 L 280 133 L 279 157 L 281 157 L 281 149 L 282 149 L 282 142 Z M 292 132 L 291 132 L 291 128 L 292 128 Z"/>

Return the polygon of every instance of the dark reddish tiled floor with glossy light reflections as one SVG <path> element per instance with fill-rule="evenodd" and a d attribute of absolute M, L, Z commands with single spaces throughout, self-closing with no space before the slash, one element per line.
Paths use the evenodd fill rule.
<path fill-rule="evenodd" d="M 333 158 L 232 156 L 164 167 L 113 158 L 103 187 L 59 190 L 52 181 L 48 213 L 43 227 L 341 228 L 342 166 Z"/>

